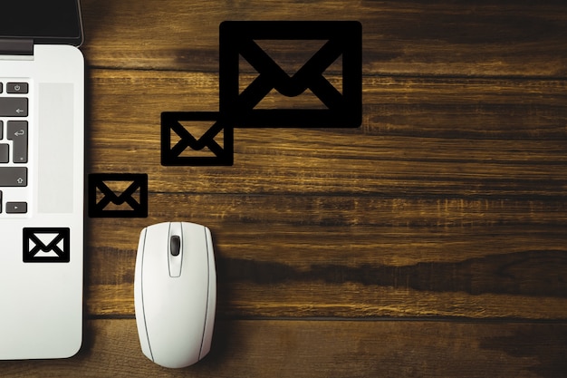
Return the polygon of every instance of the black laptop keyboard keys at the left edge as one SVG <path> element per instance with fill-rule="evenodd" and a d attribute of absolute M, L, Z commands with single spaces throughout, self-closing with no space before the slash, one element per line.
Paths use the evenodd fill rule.
<path fill-rule="evenodd" d="M 28 212 L 29 82 L 0 78 L 0 218 Z"/>

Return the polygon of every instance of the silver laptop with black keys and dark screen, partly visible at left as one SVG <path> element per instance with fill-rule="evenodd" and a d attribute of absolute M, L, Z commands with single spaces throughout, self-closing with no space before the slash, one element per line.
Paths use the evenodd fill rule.
<path fill-rule="evenodd" d="M 79 0 L 0 1 L 0 359 L 82 344 Z"/>

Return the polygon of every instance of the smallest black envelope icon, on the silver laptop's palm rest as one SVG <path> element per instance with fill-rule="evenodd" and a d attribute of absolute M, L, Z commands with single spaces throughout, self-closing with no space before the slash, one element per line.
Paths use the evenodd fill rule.
<path fill-rule="evenodd" d="M 24 263 L 71 261 L 69 228 L 24 228 Z"/>

